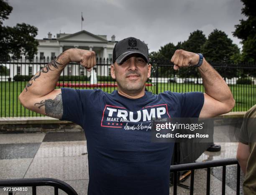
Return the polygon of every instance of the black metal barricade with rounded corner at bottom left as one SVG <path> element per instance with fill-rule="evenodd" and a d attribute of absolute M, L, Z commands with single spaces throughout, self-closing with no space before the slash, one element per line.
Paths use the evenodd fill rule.
<path fill-rule="evenodd" d="M 28 178 L 28 179 L 9 179 L 0 180 L 0 188 L 6 191 L 6 194 L 13 195 L 15 192 L 26 192 L 32 188 L 32 195 L 36 195 L 37 186 L 53 186 L 54 195 L 59 194 L 59 189 L 63 190 L 68 195 L 77 195 L 77 192 L 67 183 L 53 178 Z"/>

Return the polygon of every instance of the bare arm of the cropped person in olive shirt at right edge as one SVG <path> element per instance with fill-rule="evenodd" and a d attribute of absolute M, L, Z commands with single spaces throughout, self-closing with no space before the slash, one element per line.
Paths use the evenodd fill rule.
<path fill-rule="evenodd" d="M 238 143 L 236 158 L 244 174 L 246 174 L 246 166 L 249 156 L 249 146 L 243 143 Z"/>

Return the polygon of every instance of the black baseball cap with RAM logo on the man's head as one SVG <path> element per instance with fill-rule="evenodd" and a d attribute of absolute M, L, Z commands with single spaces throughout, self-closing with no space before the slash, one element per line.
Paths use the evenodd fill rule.
<path fill-rule="evenodd" d="M 148 46 L 141 40 L 134 37 L 125 38 L 115 44 L 112 62 L 117 62 L 118 64 L 121 64 L 125 57 L 136 53 L 142 55 L 142 57 L 149 64 Z"/>

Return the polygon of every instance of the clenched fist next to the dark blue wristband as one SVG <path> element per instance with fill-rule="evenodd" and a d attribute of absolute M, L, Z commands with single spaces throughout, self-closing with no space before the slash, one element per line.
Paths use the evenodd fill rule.
<path fill-rule="evenodd" d="M 176 50 L 171 62 L 174 63 L 174 70 L 178 70 L 180 67 L 195 66 L 199 62 L 199 55 L 185 50 Z"/>

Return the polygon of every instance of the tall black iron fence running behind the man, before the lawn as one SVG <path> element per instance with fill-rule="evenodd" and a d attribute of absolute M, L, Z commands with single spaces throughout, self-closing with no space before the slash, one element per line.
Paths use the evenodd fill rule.
<path fill-rule="evenodd" d="M 11 60 L 0 62 L 0 117 L 39 116 L 23 107 L 18 96 L 25 88 L 28 80 L 51 59 Z M 61 73 L 56 88 L 73 87 L 77 89 L 100 88 L 105 92 L 113 92 L 117 84 L 110 76 L 111 60 L 97 59 L 97 66 L 92 72 L 84 67 L 68 64 Z M 204 92 L 202 78 L 194 67 L 174 71 L 173 65 L 164 62 L 152 62 L 151 77 L 146 89 L 155 94 L 169 90 L 172 92 Z M 213 64 L 216 70 L 228 83 L 236 105 L 232 111 L 246 111 L 256 104 L 256 65 L 221 65 Z M 41 115 L 40 115 L 41 116 Z"/>

